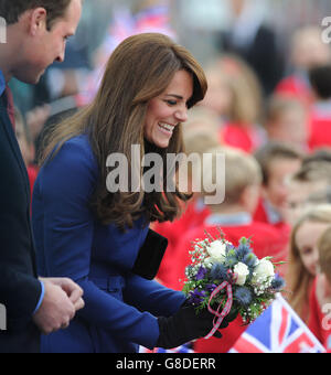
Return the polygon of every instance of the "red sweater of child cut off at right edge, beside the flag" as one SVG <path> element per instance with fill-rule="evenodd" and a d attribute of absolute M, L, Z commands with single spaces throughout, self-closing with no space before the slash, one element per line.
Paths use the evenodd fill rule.
<path fill-rule="evenodd" d="M 311 292 L 309 296 L 309 322 L 308 328 L 325 347 L 328 353 L 331 353 L 331 307 L 329 309 L 329 315 L 325 315 L 318 302 L 316 296 L 317 278 L 313 281 Z"/>

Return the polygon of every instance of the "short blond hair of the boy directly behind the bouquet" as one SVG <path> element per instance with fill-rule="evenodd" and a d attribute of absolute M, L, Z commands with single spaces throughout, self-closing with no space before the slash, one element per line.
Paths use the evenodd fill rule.
<path fill-rule="evenodd" d="M 246 188 L 261 183 L 261 171 L 255 158 L 244 151 L 231 147 L 217 147 L 207 150 L 212 153 L 211 165 L 205 167 L 205 173 L 210 174 L 207 181 L 216 180 L 216 154 L 223 153 L 225 157 L 225 199 L 223 204 L 235 204 L 239 201 Z M 210 186 L 204 186 L 204 194 L 210 194 Z M 218 190 L 221 186 L 217 186 Z"/>

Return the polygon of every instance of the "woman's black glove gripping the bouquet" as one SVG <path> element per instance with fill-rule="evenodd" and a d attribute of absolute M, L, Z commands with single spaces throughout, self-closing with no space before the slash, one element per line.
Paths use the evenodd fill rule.
<path fill-rule="evenodd" d="M 194 307 L 183 307 L 170 318 L 159 318 L 160 336 L 158 347 L 172 349 L 207 335 L 213 329 L 214 315 L 207 310 L 196 314 Z M 224 320 L 220 329 L 228 325 Z M 221 339 L 222 334 L 216 331 L 215 338 Z"/>

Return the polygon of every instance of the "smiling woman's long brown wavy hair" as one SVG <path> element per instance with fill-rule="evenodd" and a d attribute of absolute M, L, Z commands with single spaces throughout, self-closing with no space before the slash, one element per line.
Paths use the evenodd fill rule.
<path fill-rule="evenodd" d="M 162 192 L 109 193 L 106 188 L 110 171 L 106 167 L 109 154 L 119 152 L 126 156 L 130 170 L 131 144 L 140 144 L 141 157 L 148 151 L 158 152 L 162 157 L 166 176 L 167 153 L 178 154 L 184 151 L 181 125 L 175 127 L 166 149 L 151 146 L 143 138 L 149 100 L 161 95 L 180 69 L 188 71 L 193 77 L 193 95 L 188 101 L 188 107 L 191 108 L 203 99 L 207 88 L 204 72 L 191 53 L 158 33 L 128 38 L 110 55 L 94 101 L 56 126 L 47 137 L 42 162 L 45 162 L 55 147 L 58 152 L 65 141 L 88 132 L 100 172 L 90 203 L 102 223 L 116 223 L 121 228 L 131 227 L 132 222 L 141 215 L 147 221 L 172 221 L 180 213 L 180 201 L 189 199 L 189 194 L 181 193 L 178 189 L 167 192 L 166 178 Z M 140 176 L 142 174 L 141 168 Z"/>

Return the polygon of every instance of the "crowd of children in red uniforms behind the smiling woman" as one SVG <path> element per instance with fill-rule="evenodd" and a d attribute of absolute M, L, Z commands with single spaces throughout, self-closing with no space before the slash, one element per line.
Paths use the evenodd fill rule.
<path fill-rule="evenodd" d="M 188 156 L 224 156 L 224 185 L 213 188 L 225 188 L 225 196 L 207 205 L 213 192 L 202 189 L 173 223 L 153 223 L 169 240 L 157 277 L 180 290 L 191 240 L 204 231 L 221 228 L 236 245 L 252 237 L 258 257 L 285 261 L 279 270 L 287 280 L 285 297 L 331 351 L 331 53 L 316 29 L 293 35 L 292 65 L 293 74 L 268 98 L 235 55 L 222 55 L 206 68 L 209 92 L 183 125 L 183 139 Z M 32 189 L 33 137 L 19 113 L 15 124 Z M 207 160 L 203 168 L 215 181 L 214 159 Z M 194 179 L 192 167 L 189 189 Z M 237 319 L 223 340 L 197 341 L 194 350 L 226 352 L 244 329 Z"/>

